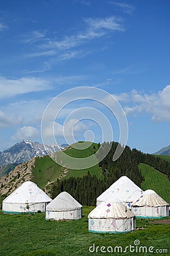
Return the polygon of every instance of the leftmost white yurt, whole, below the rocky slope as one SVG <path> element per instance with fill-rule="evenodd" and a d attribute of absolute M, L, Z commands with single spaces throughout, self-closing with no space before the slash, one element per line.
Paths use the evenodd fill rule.
<path fill-rule="evenodd" d="M 25 181 L 2 202 L 3 213 L 45 212 L 46 205 L 52 201 L 42 189 L 32 181 Z"/>

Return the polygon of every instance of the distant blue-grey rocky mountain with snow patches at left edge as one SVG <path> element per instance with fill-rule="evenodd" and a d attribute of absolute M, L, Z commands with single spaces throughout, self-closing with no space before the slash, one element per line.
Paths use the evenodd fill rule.
<path fill-rule="evenodd" d="M 24 139 L 7 150 L 0 152 L 0 166 L 10 163 L 24 163 L 35 156 L 48 155 L 62 149 L 63 147 L 58 144 L 43 145 L 39 142 Z"/>

